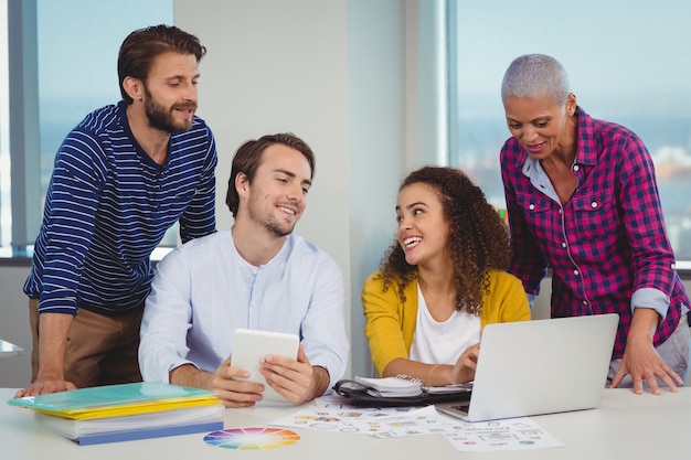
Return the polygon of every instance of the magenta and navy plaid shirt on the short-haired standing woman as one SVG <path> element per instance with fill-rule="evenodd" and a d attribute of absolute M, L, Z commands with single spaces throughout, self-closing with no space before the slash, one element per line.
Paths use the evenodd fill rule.
<path fill-rule="evenodd" d="M 562 206 L 539 161 L 511 138 L 501 150 L 511 231 L 509 271 L 536 295 L 552 268 L 552 317 L 618 313 L 621 357 L 636 307 L 655 308 L 655 345 L 679 324 L 689 298 L 674 269 L 652 160 L 630 130 L 578 108 L 578 184 Z"/>

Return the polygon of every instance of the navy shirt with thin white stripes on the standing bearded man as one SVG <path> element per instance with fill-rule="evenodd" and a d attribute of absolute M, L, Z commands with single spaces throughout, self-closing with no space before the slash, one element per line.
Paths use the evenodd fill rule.
<path fill-rule="evenodd" d="M 24 292 L 40 312 L 105 314 L 141 304 L 151 252 L 180 224 L 182 242 L 215 232 L 216 148 L 206 124 L 170 138 L 164 165 L 129 128 L 126 104 L 87 115 L 63 141 Z"/>

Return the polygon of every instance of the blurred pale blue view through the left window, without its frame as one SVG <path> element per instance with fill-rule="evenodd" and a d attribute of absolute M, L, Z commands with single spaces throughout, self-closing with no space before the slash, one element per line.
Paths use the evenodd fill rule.
<path fill-rule="evenodd" d="M 123 40 L 134 30 L 156 24 L 173 23 L 172 0 L 118 0 L 100 2 L 93 0 L 22 0 L 28 10 L 35 3 L 35 40 L 38 60 L 38 116 L 40 163 L 40 203 L 30 203 L 26 210 L 11 208 L 9 151 L 10 116 L 8 98 L 2 93 L 8 85 L 7 32 L 0 40 L 0 246 L 13 245 L 11 222 L 22 213 L 42 215 L 53 160 L 64 137 L 88 113 L 120 100 L 117 75 L 117 57 Z M 8 0 L 0 0 L 0 30 L 7 31 Z M 13 20 L 18 20 L 13 18 Z M 25 32 L 25 31 L 24 31 Z M 20 65 L 18 62 L 12 62 Z M 10 64 L 10 65 L 12 65 Z M 4 67 L 3 67 L 4 66 Z M 25 110 L 32 116 L 35 110 Z M 3 117 L 3 115 L 6 117 Z M 3 129 L 3 127 L 6 129 Z M 18 181 L 15 181 L 18 182 Z M 39 213 L 39 214 L 34 214 Z M 20 217 L 21 218 L 21 217 Z M 36 220 L 40 222 L 40 218 Z M 30 242 L 39 228 L 28 229 Z M 169 245 L 176 245 L 176 229 L 166 236 Z"/>

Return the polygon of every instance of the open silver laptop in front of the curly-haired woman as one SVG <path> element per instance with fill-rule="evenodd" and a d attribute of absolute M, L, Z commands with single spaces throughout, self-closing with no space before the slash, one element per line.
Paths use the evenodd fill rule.
<path fill-rule="evenodd" d="M 595 408 L 618 322 L 612 313 L 488 324 L 470 400 L 436 407 L 467 421 Z"/>

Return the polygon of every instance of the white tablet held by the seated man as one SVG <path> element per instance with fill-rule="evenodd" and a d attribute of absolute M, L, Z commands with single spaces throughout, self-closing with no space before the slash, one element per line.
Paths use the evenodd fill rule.
<path fill-rule="evenodd" d="M 249 373 L 248 378 L 238 379 L 264 385 L 264 400 L 286 402 L 286 399 L 264 379 L 264 376 L 259 372 L 259 360 L 269 354 L 297 360 L 299 344 L 300 339 L 296 334 L 236 329 L 235 335 L 233 336 L 231 365 L 233 367 L 244 368 Z"/>

